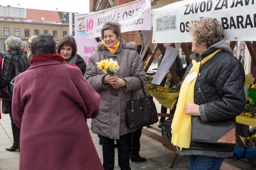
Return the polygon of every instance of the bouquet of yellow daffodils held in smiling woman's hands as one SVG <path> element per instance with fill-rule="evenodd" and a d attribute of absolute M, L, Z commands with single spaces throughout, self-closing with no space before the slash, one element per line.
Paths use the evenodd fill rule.
<path fill-rule="evenodd" d="M 108 73 L 110 76 L 114 76 L 116 70 L 119 70 L 119 66 L 117 61 L 114 61 L 112 58 L 109 60 L 101 60 L 100 62 L 97 62 L 97 67 L 99 67 L 99 70 L 103 69 L 104 73 Z"/>

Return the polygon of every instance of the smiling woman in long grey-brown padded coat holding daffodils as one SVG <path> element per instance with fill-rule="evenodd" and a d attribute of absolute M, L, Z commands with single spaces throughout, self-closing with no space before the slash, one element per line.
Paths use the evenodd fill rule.
<path fill-rule="evenodd" d="M 89 59 L 84 77 L 92 88 L 101 96 L 100 113 L 92 119 L 92 132 L 102 136 L 103 168 L 114 169 L 116 140 L 118 150 L 118 166 L 131 169 L 129 165 L 130 132 L 125 120 L 126 102 L 137 96 L 141 89 L 140 77 L 145 84 L 144 63 L 137 53 L 135 42 L 121 40 L 121 25 L 117 22 L 106 22 L 101 28 L 102 42 L 95 45 L 95 51 Z M 119 70 L 110 76 L 97 68 L 97 62 L 113 58 L 118 62 Z M 119 88 L 116 90 L 115 88 Z"/>

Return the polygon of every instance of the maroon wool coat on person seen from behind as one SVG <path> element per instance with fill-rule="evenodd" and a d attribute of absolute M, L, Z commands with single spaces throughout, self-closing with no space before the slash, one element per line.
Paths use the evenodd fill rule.
<path fill-rule="evenodd" d="M 13 90 L 20 169 L 103 169 L 85 121 L 97 117 L 99 106 L 99 94 L 77 67 L 32 63 Z"/>

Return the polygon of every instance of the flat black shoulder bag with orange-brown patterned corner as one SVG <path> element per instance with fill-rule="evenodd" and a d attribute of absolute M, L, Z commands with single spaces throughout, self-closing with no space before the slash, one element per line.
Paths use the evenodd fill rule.
<path fill-rule="evenodd" d="M 203 122 L 200 116 L 192 116 L 191 141 L 235 145 L 236 119 Z"/>

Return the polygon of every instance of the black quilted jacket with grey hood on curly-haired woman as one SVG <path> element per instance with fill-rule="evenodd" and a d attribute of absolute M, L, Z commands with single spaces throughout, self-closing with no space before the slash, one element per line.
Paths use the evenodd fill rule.
<path fill-rule="evenodd" d="M 196 79 L 195 84 L 194 102 L 199 105 L 200 116 L 204 122 L 235 118 L 244 110 L 246 102 L 244 67 L 233 56 L 226 41 L 223 39 L 209 47 L 202 54 L 202 58 L 212 54 L 218 48 L 223 50 L 204 63 L 200 69 L 201 74 Z M 196 61 L 200 60 L 200 55 L 197 53 L 193 53 L 190 57 Z M 188 67 L 184 77 L 186 77 L 191 67 L 192 64 Z M 214 133 L 214 129 L 212 129 L 212 133 Z M 181 155 L 204 155 L 225 158 L 232 156 L 233 151 L 234 146 L 191 141 L 189 149 L 183 148 L 178 153 Z"/>

